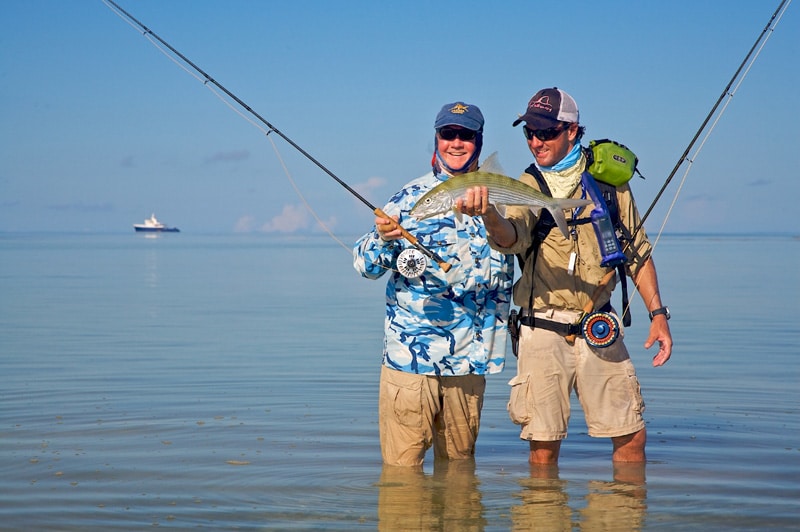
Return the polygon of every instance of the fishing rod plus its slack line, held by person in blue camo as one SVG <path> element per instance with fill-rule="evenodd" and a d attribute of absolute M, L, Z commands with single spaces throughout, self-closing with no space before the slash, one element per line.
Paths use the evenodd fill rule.
<path fill-rule="evenodd" d="M 270 133 L 275 133 L 276 135 L 280 136 L 284 141 L 289 143 L 290 146 L 292 146 L 294 149 L 296 149 L 298 152 L 300 152 L 305 158 L 307 158 L 309 161 L 314 163 L 319 169 L 321 169 L 323 172 L 328 174 L 337 183 L 339 183 L 342 187 L 344 187 L 348 192 L 350 192 L 350 194 L 355 196 L 364 205 L 369 207 L 376 216 L 380 216 L 382 218 L 388 219 L 391 224 L 393 224 L 397 229 L 400 230 L 403 238 L 408 240 L 411 243 L 411 245 L 414 246 L 414 248 L 416 248 L 417 250 L 419 250 L 419 252 L 421 252 L 423 255 L 425 255 L 426 257 L 430 258 L 434 262 L 436 262 L 436 264 L 438 264 L 439 267 L 444 272 L 447 272 L 447 271 L 450 270 L 450 267 L 451 267 L 450 264 L 445 262 L 444 259 L 439 257 L 436 253 L 434 253 L 433 251 L 431 251 L 428 248 L 426 248 L 425 246 L 423 246 L 417 240 L 417 238 L 414 235 L 409 233 L 404 227 L 402 227 L 400 224 L 395 222 L 391 216 L 389 216 L 388 214 L 383 212 L 383 210 L 380 209 L 379 207 L 376 207 L 372 203 L 370 203 L 364 196 L 359 194 L 350 185 L 348 185 L 346 182 L 344 182 L 342 179 L 340 179 L 336 174 L 331 172 L 325 165 L 323 165 L 321 162 L 319 162 L 317 159 L 315 159 L 306 150 L 301 148 L 292 139 L 287 137 L 278 128 L 276 128 L 275 126 L 270 124 L 264 117 L 262 117 L 260 114 L 255 112 L 249 105 L 247 105 L 244 101 L 239 99 L 235 94 L 233 94 L 231 91 L 226 89 L 222 84 L 217 82 L 214 78 L 209 76 L 203 69 L 201 69 L 195 63 L 193 63 L 191 60 L 189 60 L 189 58 L 187 58 L 185 55 L 183 55 L 178 50 L 173 48 L 172 45 L 170 45 L 167 41 L 165 41 L 164 39 L 162 39 L 161 37 L 156 35 L 152 30 L 150 30 L 150 28 L 148 28 L 147 26 L 145 26 L 144 24 L 139 22 L 139 20 L 137 20 L 133 15 L 131 15 L 130 13 L 125 11 L 122 7 L 120 7 L 113 0 L 101 0 L 101 1 L 106 6 L 108 6 L 109 9 L 111 9 L 114 13 L 116 13 L 120 18 L 122 18 L 123 20 L 128 22 L 128 24 L 130 26 L 132 26 L 134 29 L 136 29 L 137 31 L 141 31 L 142 35 L 144 35 L 151 43 L 153 43 L 154 46 L 156 46 L 156 48 L 158 48 L 163 54 L 165 54 L 167 57 L 169 57 L 174 63 L 178 64 L 184 71 L 188 72 L 195 79 L 197 79 L 198 81 L 201 81 L 205 86 L 207 86 L 209 89 L 211 89 L 211 92 L 213 92 L 218 98 L 220 98 L 223 102 L 225 102 L 226 105 L 228 105 L 228 107 L 234 109 L 234 111 L 236 111 L 237 114 L 239 114 L 240 116 L 243 116 L 245 119 L 248 120 L 248 122 L 250 122 L 251 124 L 253 124 L 256 127 L 258 127 L 261 131 L 263 131 L 267 135 L 267 138 L 269 138 L 270 142 L 272 142 L 272 139 L 269 137 Z M 156 41 L 159 44 L 156 44 Z M 169 53 L 167 52 L 167 50 L 164 50 L 161 47 L 162 45 L 164 47 L 166 47 L 167 50 L 169 50 Z M 175 59 L 176 57 L 179 58 L 180 61 L 182 61 L 182 63 L 178 62 Z M 192 72 L 191 70 L 186 68 L 187 65 L 189 67 L 191 67 L 191 70 L 193 70 L 194 72 Z M 199 76 L 197 74 L 199 74 Z M 223 98 L 221 94 L 217 93 L 216 90 L 214 90 L 213 87 L 211 87 L 211 85 L 213 85 L 214 87 L 216 87 L 219 90 L 221 90 L 228 98 L 230 98 L 231 100 L 236 102 L 237 105 L 239 105 L 242 109 L 247 111 L 247 113 L 249 113 L 258 122 L 260 122 L 261 124 L 265 125 L 268 128 L 268 130 L 265 130 L 262 126 L 260 126 L 259 124 L 257 124 L 253 120 L 251 120 L 249 117 L 247 117 L 245 114 L 243 114 L 240 110 L 235 109 L 235 107 L 228 100 Z M 273 142 L 273 148 L 275 149 L 275 151 L 277 153 L 277 147 L 275 146 L 274 142 Z M 281 165 L 284 167 L 284 171 L 287 172 L 287 176 L 288 176 L 288 171 L 286 170 L 286 166 L 285 166 L 285 164 L 283 164 L 283 161 L 280 158 L 280 156 L 279 156 L 279 160 L 281 160 Z M 316 213 L 313 211 L 313 209 L 310 209 L 310 206 L 309 206 L 308 202 L 305 200 L 305 198 L 303 198 L 302 194 L 299 194 L 299 190 L 298 190 L 297 186 L 295 185 L 294 181 L 291 178 L 289 180 L 292 183 L 292 186 L 295 189 L 295 191 L 298 192 L 298 195 L 300 195 L 300 198 L 303 201 L 303 203 L 306 205 L 306 207 L 309 208 L 309 210 L 311 211 L 312 215 L 317 219 L 317 221 L 321 223 L 321 220 L 316 215 Z M 324 224 L 321 224 L 321 225 L 326 231 L 328 231 L 327 227 Z M 328 231 L 328 233 L 331 234 L 330 231 Z M 333 235 L 331 234 L 331 236 L 333 236 Z M 334 237 L 334 239 L 339 241 L 336 237 Z"/>

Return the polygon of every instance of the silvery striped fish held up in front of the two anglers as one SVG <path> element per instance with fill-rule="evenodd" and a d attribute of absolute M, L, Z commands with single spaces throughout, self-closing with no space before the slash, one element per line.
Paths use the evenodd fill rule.
<path fill-rule="evenodd" d="M 569 237 L 569 229 L 564 211 L 592 204 L 590 200 L 552 198 L 518 179 L 478 170 L 450 177 L 435 186 L 412 207 L 411 216 L 417 220 L 424 220 L 437 214 L 444 214 L 453 210 L 459 198 L 466 196 L 467 189 L 480 186 L 489 189 L 489 203 L 493 204 L 501 215 L 505 214 L 507 206 L 547 209 L 565 238 Z"/>

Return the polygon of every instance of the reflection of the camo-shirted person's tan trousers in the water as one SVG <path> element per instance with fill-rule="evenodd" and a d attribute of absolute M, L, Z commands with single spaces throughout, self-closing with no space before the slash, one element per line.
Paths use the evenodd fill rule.
<path fill-rule="evenodd" d="M 483 530 L 475 460 L 435 460 L 422 468 L 384 465 L 378 484 L 379 530 Z"/>

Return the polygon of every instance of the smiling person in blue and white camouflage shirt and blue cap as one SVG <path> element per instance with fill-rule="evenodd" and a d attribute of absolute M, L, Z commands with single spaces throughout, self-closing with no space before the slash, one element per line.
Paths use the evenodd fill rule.
<path fill-rule="evenodd" d="M 475 105 L 442 107 L 432 171 L 396 193 L 383 209 L 393 221 L 377 216 L 353 250 L 364 277 L 389 273 L 379 396 L 381 453 L 389 465 L 420 466 L 431 446 L 436 458 L 474 457 L 485 375 L 505 364 L 512 257 L 491 249 L 480 216 L 409 215 L 433 187 L 478 167 L 483 125 Z M 394 222 L 451 269 L 428 264 L 418 277 L 402 275 L 403 253 L 413 246 Z"/>

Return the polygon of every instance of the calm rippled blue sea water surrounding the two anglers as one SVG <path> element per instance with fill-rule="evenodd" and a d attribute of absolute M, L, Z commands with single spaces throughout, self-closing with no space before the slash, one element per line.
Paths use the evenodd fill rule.
<path fill-rule="evenodd" d="M 328 237 L 0 234 L 0 529 L 800 529 L 800 239 L 655 256 L 672 360 L 638 299 L 626 332 L 645 468 L 576 406 L 532 472 L 510 357 L 475 462 L 412 473 L 378 446 L 384 281 Z"/>

